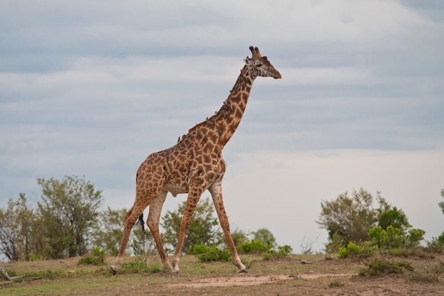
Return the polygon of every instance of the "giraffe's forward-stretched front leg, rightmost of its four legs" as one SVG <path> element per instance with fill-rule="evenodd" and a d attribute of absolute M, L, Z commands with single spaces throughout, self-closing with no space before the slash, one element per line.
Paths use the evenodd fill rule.
<path fill-rule="evenodd" d="M 238 268 L 239 273 L 248 273 L 248 269 L 245 268 L 245 265 L 243 265 L 243 263 L 240 261 L 238 251 L 234 245 L 233 236 L 231 236 L 230 223 L 228 222 L 228 216 L 225 212 L 225 207 L 223 206 L 221 183 L 213 185 L 211 188 L 209 188 L 209 191 L 211 193 L 211 197 L 213 198 L 214 207 L 216 208 L 223 234 L 225 234 L 228 248 L 230 249 L 231 257 L 233 258 L 233 263 Z"/>

